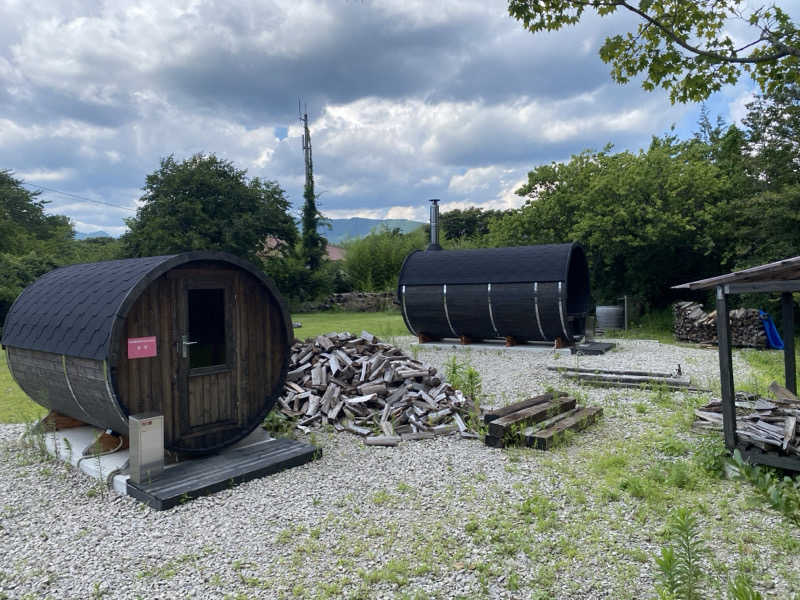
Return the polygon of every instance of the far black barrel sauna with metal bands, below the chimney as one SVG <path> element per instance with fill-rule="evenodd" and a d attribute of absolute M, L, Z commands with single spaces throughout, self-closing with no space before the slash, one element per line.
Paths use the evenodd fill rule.
<path fill-rule="evenodd" d="M 578 244 L 417 251 L 398 300 L 420 339 L 572 343 L 586 329 L 589 269 Z"/>

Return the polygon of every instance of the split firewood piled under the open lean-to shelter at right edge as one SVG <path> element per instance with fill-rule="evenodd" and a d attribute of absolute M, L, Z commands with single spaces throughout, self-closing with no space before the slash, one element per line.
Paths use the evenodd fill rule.
<path fill-rule="evenodd" d="M 797 435 L 800 399 L 775 382 L 769 386 L 769 390 L 775 399 L 736 393 L 736 435 L 762 450 L 778 450 L 800 456 L 800 436 Z M 694 413 L 695 429 L 722 430 L 720 400 L 712 400 Z"/>

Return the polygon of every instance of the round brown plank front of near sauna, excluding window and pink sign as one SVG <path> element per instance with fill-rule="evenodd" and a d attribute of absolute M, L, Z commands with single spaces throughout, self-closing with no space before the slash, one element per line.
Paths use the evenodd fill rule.
<path fill-rule="evenodd" d="M 230 372 L 188 376 L 185 390 L 191 401 L 182 416 L 178 341 L 182 333 L 183 277 L 230 281 L 234 293 Z M 224 273 L 224 275 L 223 275 Z M 120 341 L 117 392 L 130 413 L 164 414 L 165 445 L 202 450 L 224 445 L 249 431 L 280 393 L 280 375 L 288 358 L 277 301 L 255 277 L 231 269 L 176 269 L 153 282 L 131 308 Z M 222 284 L 221 284 L 222 286 Z M 155 335 L 158 356 L 127 359 L 127 338 Z M 231 426 L 231 421 L 234 426 Z M 214 424 L 218 424 L 217 427 Z M 192 431 L 193 430 L 193 431 Z"/>

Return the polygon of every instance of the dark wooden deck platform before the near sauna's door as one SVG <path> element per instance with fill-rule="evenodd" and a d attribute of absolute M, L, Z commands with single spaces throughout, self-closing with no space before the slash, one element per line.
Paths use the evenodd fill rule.
<path fill-rule="evenodd" d="M 213 494 L 264 475 L 311 462 L 322 450 L 289 439 L 271 439 L 168 467 L 146 483 L 128 481 L 128 495 L 156 510 Z"/>

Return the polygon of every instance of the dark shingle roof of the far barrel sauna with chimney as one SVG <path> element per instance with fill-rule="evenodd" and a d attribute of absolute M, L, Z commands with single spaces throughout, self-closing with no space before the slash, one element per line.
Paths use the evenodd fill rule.
<path fill-rule="evenodd" d="M 413 252 L 399 284 L 441 285 L 565 281 L 576 244 Z"/>

